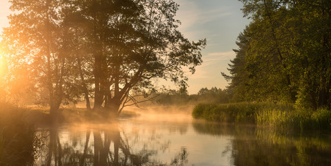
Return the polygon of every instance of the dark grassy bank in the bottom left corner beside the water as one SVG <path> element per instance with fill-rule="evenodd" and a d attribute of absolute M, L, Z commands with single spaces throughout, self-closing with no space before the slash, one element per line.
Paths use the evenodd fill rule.
<path fill-rule="evenodd" d="M 26 110 L 0 103 L 0 165 L 32 165 L 41 145 Z"/>

